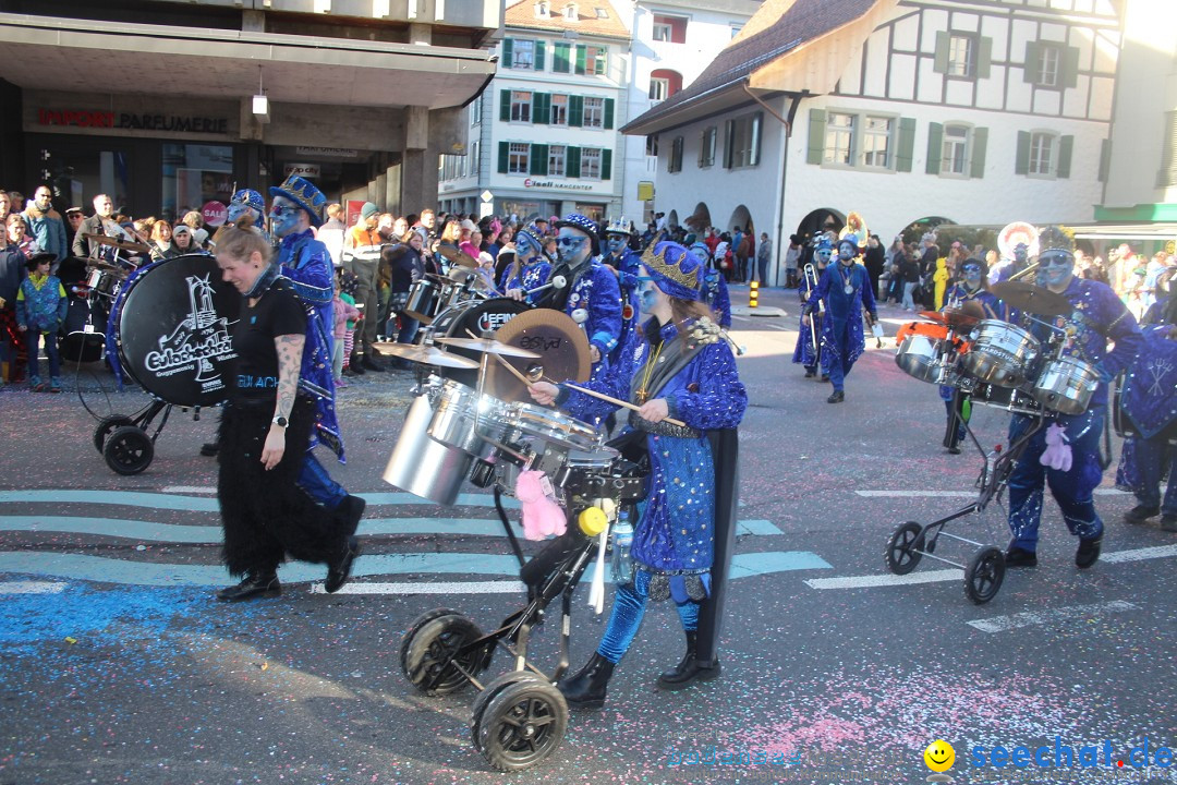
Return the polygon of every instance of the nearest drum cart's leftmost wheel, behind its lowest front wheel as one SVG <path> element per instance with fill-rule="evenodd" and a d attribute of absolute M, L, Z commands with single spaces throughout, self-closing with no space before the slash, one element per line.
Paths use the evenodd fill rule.
<path fill-rule="evenodd" d="M 479 673 L 490 663 L 485 648 L 458 656 L 458 650 L 481 637 L 478 626 L 460 613 L 430 619 L 405 640 L 405 677 L 427 696 L 458 692 L 468 681 L 455 664 L 470 673 Z"/>

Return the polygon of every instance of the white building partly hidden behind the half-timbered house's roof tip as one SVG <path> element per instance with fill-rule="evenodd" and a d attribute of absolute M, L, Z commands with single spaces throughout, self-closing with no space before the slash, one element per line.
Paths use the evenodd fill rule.
<path fill-rule="evenodd" d="M 619 4 L 620 5 L 620 4 Z M 692 82 L 716 59 L 760 0 L 651 0 L 633 4 L 633 68 L 626 117 L 636 118 Z M 630 220 L 653 217 L 658 157 L 646 139 L 625 137 L 621 211 Z"/>

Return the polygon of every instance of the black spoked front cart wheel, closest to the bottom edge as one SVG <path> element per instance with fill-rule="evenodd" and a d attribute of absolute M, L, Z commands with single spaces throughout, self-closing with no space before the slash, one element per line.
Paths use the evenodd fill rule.
<path fill-rule="evenodd" d="M 514 680 L 499 690 L 472 729 L 486 763 L 503 772 L 547 759 L 564 741 L 568 705 L 541 679 Z"/>

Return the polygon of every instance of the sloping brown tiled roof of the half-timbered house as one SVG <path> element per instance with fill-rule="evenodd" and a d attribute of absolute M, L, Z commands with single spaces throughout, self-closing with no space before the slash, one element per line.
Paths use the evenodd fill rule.
<path fill-rule="evenodd" d="M 680 111 L 700 95 L 736 85 L 758 68 L 778 60 L 804 44 L 847 25 L 878 0 L 794 0 L 765 2 L 749 20 L 753 32 L 739 35 L 720 52 L 691 85 L 671 95 L 645 114 L 631 120 L 625 128 Z M 778 19 L 769 22 L 772 15 Z M 769 22 L 769 24 L 766 24 Z M 759 32 L 754 32 L 759 29 Z"/>

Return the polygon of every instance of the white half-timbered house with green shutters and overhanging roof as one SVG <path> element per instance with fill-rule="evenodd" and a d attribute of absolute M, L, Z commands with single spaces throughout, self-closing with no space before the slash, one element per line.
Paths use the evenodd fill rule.
<path fill-rule="evenodd" d="M 658 137 L 657 209 L 751 224 L 774 267 L 850 211 L 884 241 L 925 218 L 1090 221 L 1119 41 L 1112 0 L 772 2 L 623 131 Z"/>

